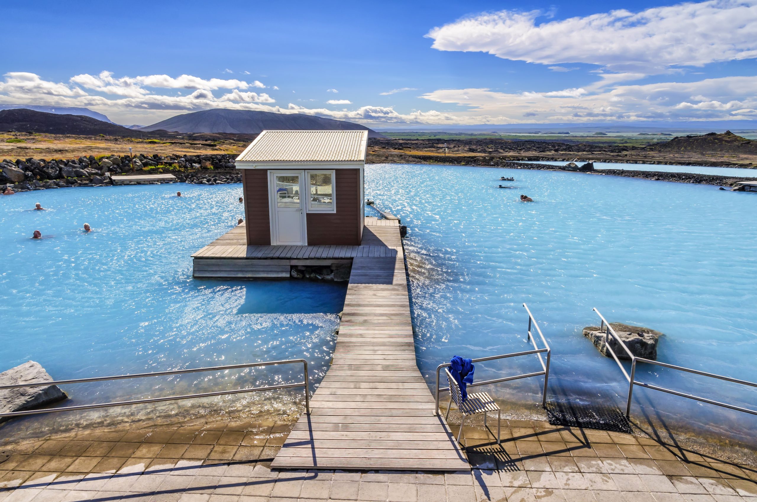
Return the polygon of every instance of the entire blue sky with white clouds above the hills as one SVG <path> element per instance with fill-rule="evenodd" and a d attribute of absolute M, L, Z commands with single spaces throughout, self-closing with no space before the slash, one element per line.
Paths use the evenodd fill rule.
<path fill-rule="evenodd" d="M 210 108 L 379 129 L 757 120 L 757 0 L 0 0 L 0 18 L 0 104 L 125 125 Z"/>

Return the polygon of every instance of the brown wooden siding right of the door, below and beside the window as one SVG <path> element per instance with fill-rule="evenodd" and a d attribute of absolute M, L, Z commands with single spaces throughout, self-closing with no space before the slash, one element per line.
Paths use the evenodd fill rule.
<path fill-rule="evenodd" d="M 335 169 L 335 178 L 336 212 L 307 213 L 308 246 L 360 246 L 363 230 L 360 169 Z"/>

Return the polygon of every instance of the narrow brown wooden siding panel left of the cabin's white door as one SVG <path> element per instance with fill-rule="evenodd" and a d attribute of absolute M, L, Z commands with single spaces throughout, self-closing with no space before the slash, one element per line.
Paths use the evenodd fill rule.
<path fill-rule="evenodd" d="M 245 197 L 245 230 L 248 246 L 270 246 L 271 222 L 268 209 L 268 170 L 245 169 L 241 176 Z"/>

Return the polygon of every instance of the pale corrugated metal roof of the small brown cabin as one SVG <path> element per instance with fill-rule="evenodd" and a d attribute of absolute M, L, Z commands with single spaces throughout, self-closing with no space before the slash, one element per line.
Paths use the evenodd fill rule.
<path fill-rule="evenodd" d="M 367 131 L 263 131 L 237 161 L 361 162 L 367 141 Z"/>

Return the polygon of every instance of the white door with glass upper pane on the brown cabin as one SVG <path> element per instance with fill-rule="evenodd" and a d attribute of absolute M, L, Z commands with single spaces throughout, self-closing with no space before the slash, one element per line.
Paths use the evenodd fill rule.
<path fill-rule="evenodd" d="M 302 171 L 271 172 L 271 243 L 274 246 L 304 246 L 305 176 Z"/>

